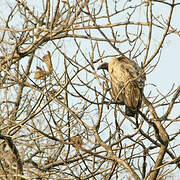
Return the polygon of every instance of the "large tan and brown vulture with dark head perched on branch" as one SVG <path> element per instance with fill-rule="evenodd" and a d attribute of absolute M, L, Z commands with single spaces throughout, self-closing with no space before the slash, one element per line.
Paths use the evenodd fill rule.
<path fill-rule="evenodd" d="M 109 72 L 113 98 L 125 105 L 125 114 L 135 117 L 141 107 L 145 74 L 138 64 L 126 57 L 113 57 L 109 63 L 102 63 L 98 69 Z"/>

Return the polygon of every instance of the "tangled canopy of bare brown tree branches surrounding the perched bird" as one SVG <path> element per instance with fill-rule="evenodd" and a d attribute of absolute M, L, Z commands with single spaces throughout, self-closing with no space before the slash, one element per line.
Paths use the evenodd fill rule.
<path fill-rule="evenodd" d="M 172 23 L 179 6 L 1 1 L 0 179 L 173 179 L 180 168 L 178 84 L 162 94 L 147 81 L 135 120 L 113 101 L 109 75 L 97 67 L 125 55 L 148 78 L 167 37 L 180 36 Z"/>

